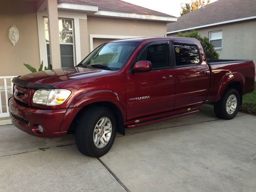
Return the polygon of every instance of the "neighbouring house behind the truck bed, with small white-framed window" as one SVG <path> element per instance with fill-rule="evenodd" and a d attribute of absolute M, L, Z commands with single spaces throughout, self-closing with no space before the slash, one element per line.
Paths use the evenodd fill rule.
<path fill-rule="evenodd" d="M 167 24 L 167 36 L 195 29 L 215 46 L 222 59 L 256 62 L 256 1 L 219 0 Z"/>

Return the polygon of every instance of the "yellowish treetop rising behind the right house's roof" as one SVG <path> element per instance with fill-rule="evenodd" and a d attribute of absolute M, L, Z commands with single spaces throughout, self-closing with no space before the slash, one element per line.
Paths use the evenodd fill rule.
<path fill-rule="evenodd" d="M 191 11 L 195 11 L 201 7 L 204 7 L 205 5 L 208 5 L 210 3 L 210 0 L 191 0 L 190 4 L 181 4 L 182 11 L 180 12 L 180 15 L 187 14 Z"/>

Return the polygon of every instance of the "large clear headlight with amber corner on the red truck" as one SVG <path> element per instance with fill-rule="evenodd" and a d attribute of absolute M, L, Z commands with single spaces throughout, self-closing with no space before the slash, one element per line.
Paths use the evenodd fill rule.
<path fill-rule="evenodd" d="M 58 105 L 65 102 L 71 94 L 66 89 L 37 90 L 33 95 L 33 103 L 45 105 Z"/>

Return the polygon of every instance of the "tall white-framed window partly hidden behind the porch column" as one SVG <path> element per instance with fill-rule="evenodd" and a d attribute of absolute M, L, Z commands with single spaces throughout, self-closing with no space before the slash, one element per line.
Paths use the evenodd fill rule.
<path fill-rule="evenodd" d="M 66 18 L 59 18 L 59 44 L 60 44 L 60 58 L 61 67 L 74 67 L 74 35 L 73 35 L 73 20 Z M 50 46 L 49 46 L 49 26 L 48 18 L 44 18 L 45 22 L 45 37 L 48 66 L 50 62 Z"/>

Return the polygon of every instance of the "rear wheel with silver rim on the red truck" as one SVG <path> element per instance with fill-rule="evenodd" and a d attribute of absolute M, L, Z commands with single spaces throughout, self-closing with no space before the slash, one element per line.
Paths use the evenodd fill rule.
<path fill-rule="evenodd" d="M 236 107 L 234 107 L 234 104 L 232 104 L 235 103 L 235 98 L 237 103 Z M 221 99 L 214 104 L 214 112 L 216 116 L 221 119 L 233 119 L 238 113 L 240 103 L 241 97 L 238 90 L 229 88 L 224 92 Z M 226 106 L 226 104 L 228 104 L 228 106 Z"/>

